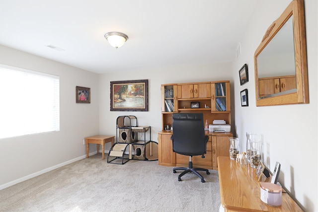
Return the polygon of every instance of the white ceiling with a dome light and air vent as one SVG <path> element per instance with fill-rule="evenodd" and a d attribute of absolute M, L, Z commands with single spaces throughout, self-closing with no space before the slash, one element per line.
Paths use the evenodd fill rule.
<path fill-rule="evenodd" d="M 96 73 L 232 62 L 256 3 L 0 0 L 0 44 Z M 111 31 L 129 37 L 117 50 Z"/>

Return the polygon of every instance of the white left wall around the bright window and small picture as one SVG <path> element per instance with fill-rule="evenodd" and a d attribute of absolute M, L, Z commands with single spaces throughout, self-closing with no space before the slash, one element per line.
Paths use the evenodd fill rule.
<path fill-rule="evenodd" d="M 0 139 L 0 189 L 85 157 L 83 138 L 99 133 L 98 74 L 1 45 L 0 63 L 60 76 L 60 131 Z M 76 86 L 91 88 L 90 104 L 76 103 Z"/>

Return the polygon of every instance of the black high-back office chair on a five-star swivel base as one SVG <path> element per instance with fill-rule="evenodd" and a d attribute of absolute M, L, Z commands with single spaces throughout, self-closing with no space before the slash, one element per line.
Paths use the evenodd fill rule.
<path fill-rule="evenodd" d="M 176 173 L 176 170 L 184 170 L 178 176 L 178 181 L 181 181 L 181 177 L 184 174 L 192 172 L 201 178 L 202 183 L 205 183 L 204 178 L 197 171 L 206 171 L 207 174 L 210 174 L 209 170 L 203 168 L 193 168 L 191 161 L 191 157 L 193 155 L 202 155 L 202 158 L 204 158 L 204 154 L 207 151 L 207 142 L 209 140 L 209 136 L 206 136 L 204 133 L 203 114 L 173 113 L 172 119 L 172 149 L 178 154 L 189 155 L 189 167 L 173 168 L 173 173 Z"/>

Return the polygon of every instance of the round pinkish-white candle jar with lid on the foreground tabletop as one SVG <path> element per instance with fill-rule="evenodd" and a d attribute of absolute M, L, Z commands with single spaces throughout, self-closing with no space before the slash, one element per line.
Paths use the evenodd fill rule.
<path fill-rule="evenodd" d="M 269 206 L 281 206 L 282 187 L 273 183 L 260 183 L 260 199 Z"/>

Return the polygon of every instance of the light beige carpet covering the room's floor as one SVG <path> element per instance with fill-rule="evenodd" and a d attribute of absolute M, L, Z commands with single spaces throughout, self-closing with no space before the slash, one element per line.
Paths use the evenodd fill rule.
<path fill-rule="evenodd" d="M 107 163 L 92 155 L 0 190 L 0 211 L 23 212 L 217 212 L 218 172 L 193 173 L 179 182 L 158 161 Z"/>

